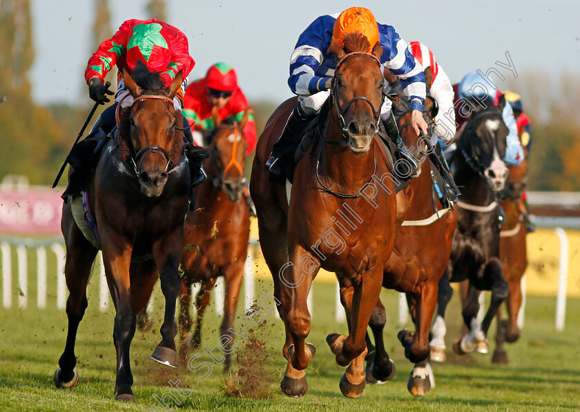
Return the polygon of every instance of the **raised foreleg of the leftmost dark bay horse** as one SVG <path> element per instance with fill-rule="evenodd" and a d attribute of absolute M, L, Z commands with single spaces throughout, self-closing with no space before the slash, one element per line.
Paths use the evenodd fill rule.
<path fill-rule="evenodd" d="M 165 313 L 160 328 L 162 339 L 153 351 L 151 359 L 173 368 L 177 367 L 175 307 L 181 289 L 181 279 L 177 268 L 180 264 L 183 241 L 184 231 L 183 227 L 180 227 L 170 235 L 156 239 L 152 248 L 153 260 L 160 273 L 161 291 L 165 297 Z"/>

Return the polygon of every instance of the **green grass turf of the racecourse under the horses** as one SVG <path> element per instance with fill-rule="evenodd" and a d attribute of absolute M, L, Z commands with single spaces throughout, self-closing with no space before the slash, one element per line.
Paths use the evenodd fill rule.
<path fill-rule="evenodd" d="M 34 260 L 34 259 L 32 259 Z M 30 262 L 34 264 L 34 262 Z M 49 262 L 49 264 L 52 264 Z M 16 275 L 13 278 L 17 285 Z M 282 322 L 273 316 L 251 335 L 266 343 L 271 353 L 265 369 L 271 373 L 257 377 L 260 384 L 271 388 L 267 399 L 231 398 L 222 389 L 224 377 L 221 365 L 214 364 L 213 373 L 199 380 L 200 372 L 193 373 L 181 367 L 168 369 L 149 359 L 160 340 L 162 297 L 155 288 L 154 326 L 151 330 L 137 331 L 131 346 L 131 364 L 137 402 L 124 404 L 113 400 L 115 387 L 115 349 L 112 341 L 114 311 L 99 312 L 98 279 L 89 284 L 89 307 L 77 336 L 76 355 L 80 383 L 72 390 L 56 389 L 52 373 L 66 340 L 66 313 L 56 308 L 55 282 L 49 275 L 47 308 L 36 308 L 36 279 L 28 279 L 30 297 L 28 308 L 19 309 L 17 292 L 12 297 L 11 309 L 0 309 L 0 410 L 1 411 L 165 411 L 155 401 L 154 394 L 162 397 L 170 393 L 169 380 L 180 380 L 180 388 L 191 389 L 188 396 L 173 391 L 180 404 L 166 404 L 174 409 L 200 411 L 529 411 L 580 408 L 580 300 L 568 300 L 566 329 L 554 328 L 555 299 L 528 296 L 525 327 L 515 344 L 506 346 L 510 364 L 491 364 L 490 355 L 472 354 L 458 357 L 450 350 L 451 343 L 461 328 L 458 297 L 454 296 L 447 312 L 447 357 L 445 364 L 434 364 L 436 388 L 423 398 L 414 398 L 406 383 L 412 365 L 405 359 L 396 332 L 398 295 L 383 291 L 387 308 L 385 342 L 387 351 L 397 366 L 394 379 L 383 385 L 367 385 L 358 400 L 347 399 L 338 389 L 338 380 L 344 372 L 334 362 L 334 355 L 325 342 L 328 333 L 345 333 L 345 323 L 334 318 L 335 286 L 315 283 L 311 333 L 308 341 L 318 351 L 307 370 L 309 391 L 304 398 L 290 399 L 278 386 L 284 371 L 280 355 L 284 331 Z M 255 296 L 272 291 L 272 284 L 257 280 Z M 243 288 L 240 302 L 244 302 Z M 241 306 L 241 305 L 240 305 Z M 237 316 L 242 310 L 238 307 Z M 202 344 L 215 345 L 219 337 L 220 317 L 215 315 L 211 302 L 206 313 Z M 238 326 L 236 320 L 235 326 Z M 409 324 L 405 325 L 410 327 Z M 492 337 L 490 346 L 494 348 Z M 237 340 L 239 351 L 245 343 Z M 199 364 L 208 360 L 202 354 Z M 191 355 L 192 353 L 190 353 Z M 233 371 L 239 364 L 234 362 Z"/>

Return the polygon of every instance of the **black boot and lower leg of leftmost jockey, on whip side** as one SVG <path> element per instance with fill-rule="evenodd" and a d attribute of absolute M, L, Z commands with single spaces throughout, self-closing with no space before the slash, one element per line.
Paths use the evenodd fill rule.
<path fill-rule="evenodd" d="M 110 130 L 115 126 L 114 122 L 113 124 L 108 124 L 109 116 L 106 111 L 109 109 L 106 109 L 95 121 L 90 133 L 70 150 L 68 164 L 72 171 L 66 190 L 61 196 L 65 200 L 68 196 L 81 197 L 82 192 L 88 190 L 90 170 L 93 169 L 95 162 L 99 158 L 99 152 L 103 146 L 99 143 L 106 138 Z"/>

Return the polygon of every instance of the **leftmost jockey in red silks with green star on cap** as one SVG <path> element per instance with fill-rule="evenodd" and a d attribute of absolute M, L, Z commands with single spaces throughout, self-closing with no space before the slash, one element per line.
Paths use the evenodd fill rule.
<path fill-rule="evenodd" d="M 115 126 L 115 110 L 117 105 L 128 107 L 133 104 L 133 97 L 129 94 L 123 79 L 123 70 L 129 75 L 133 75 L 133 70 L 138 64 L 144 64 L 153 73 L 158 73 L 160 83 L 166 87 L 171 84 L 179 72 L 182 78 L 191 72 L 195 61 L 189 55 L 189 43 L 183 32 L 168 23 L 157 19 L 125 21 L 119 30 L 108 40 L 101 43 L 97 51 L 88 60 L 85 70 L 85 79 L 88 84 L 88 93 L 91 99 L 99 104 L 110 101 L 107 95 L 113 92 L 106 90 L 103 84 L 104 77 L 114 67 L 117 66 L 117 93 L 115 103 L 99 116 L 95 125 L 90 130 L 84 141 L 80 141 L 70 153 L 69 164 L 72 166 L 70 183 L 62 195 L 64 199 L 68 196 L 80 196 L 81 191 L 86 190 L 88 173 L 93 166 L 95 157 L 104 144 L 104 140 L 97 146 L 95 140 L 87 141 L 98 133 L 106 136 Z M 182 88 L 177 90 L 173 99 L 175 110 L 182 110 L 183 95 L 186 81 Z M 188 126 L 184 119 L 184 126 Z M 193 144 L 193 137 L 189 128 L 185 130 L 186 139 Z M 202 159 L 188 156 L 191 169 L 192 187 L 200 184 L 206 179 L 202 169 Z"/>

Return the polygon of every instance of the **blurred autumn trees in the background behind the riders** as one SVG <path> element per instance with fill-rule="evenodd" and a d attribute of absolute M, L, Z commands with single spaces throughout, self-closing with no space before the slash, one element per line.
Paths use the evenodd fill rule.
<path fill-rule="evenodd" d="M 147 10 L 151 17 L 166 19 L 164 0 L 149 1 Z M 108 1 L 94 0 L 93 16 L 90 28 L 93 46 L 87 50 L 87 60 L 102 40 L 110 38 L 114 29 L 110 25 Z M 0 179 L 18 174 L 27 175 L 31 184 L 52 184 L 92 101 L 87 93 L 84 105 L 35 104 L 34 87 L 28 78 L 35 58 L 30 0 L 0 0 L 0 55 Z M 115 75 L 115 70 L 111 70 L 108 81 L 115 84 Z M 79 72 L 78 77 L 82 79 L 83 73 Z M 42 87 L 42 79 L 35 82 L 36 87 Z M 241 87 L 243 90 L 244 85 Z M 528 188 L 580 190 L 580 117 L 576 114 L 580 107 L 580 74 L 562 72 L 557 77 L 544 72 L 521 72 L 505 88 L 521 95 L 524 110 L 532 121 Z M 281 102 L 250 103 L 260 135 Z M 93 119 L 103 108 L 99 108 Z"/>

